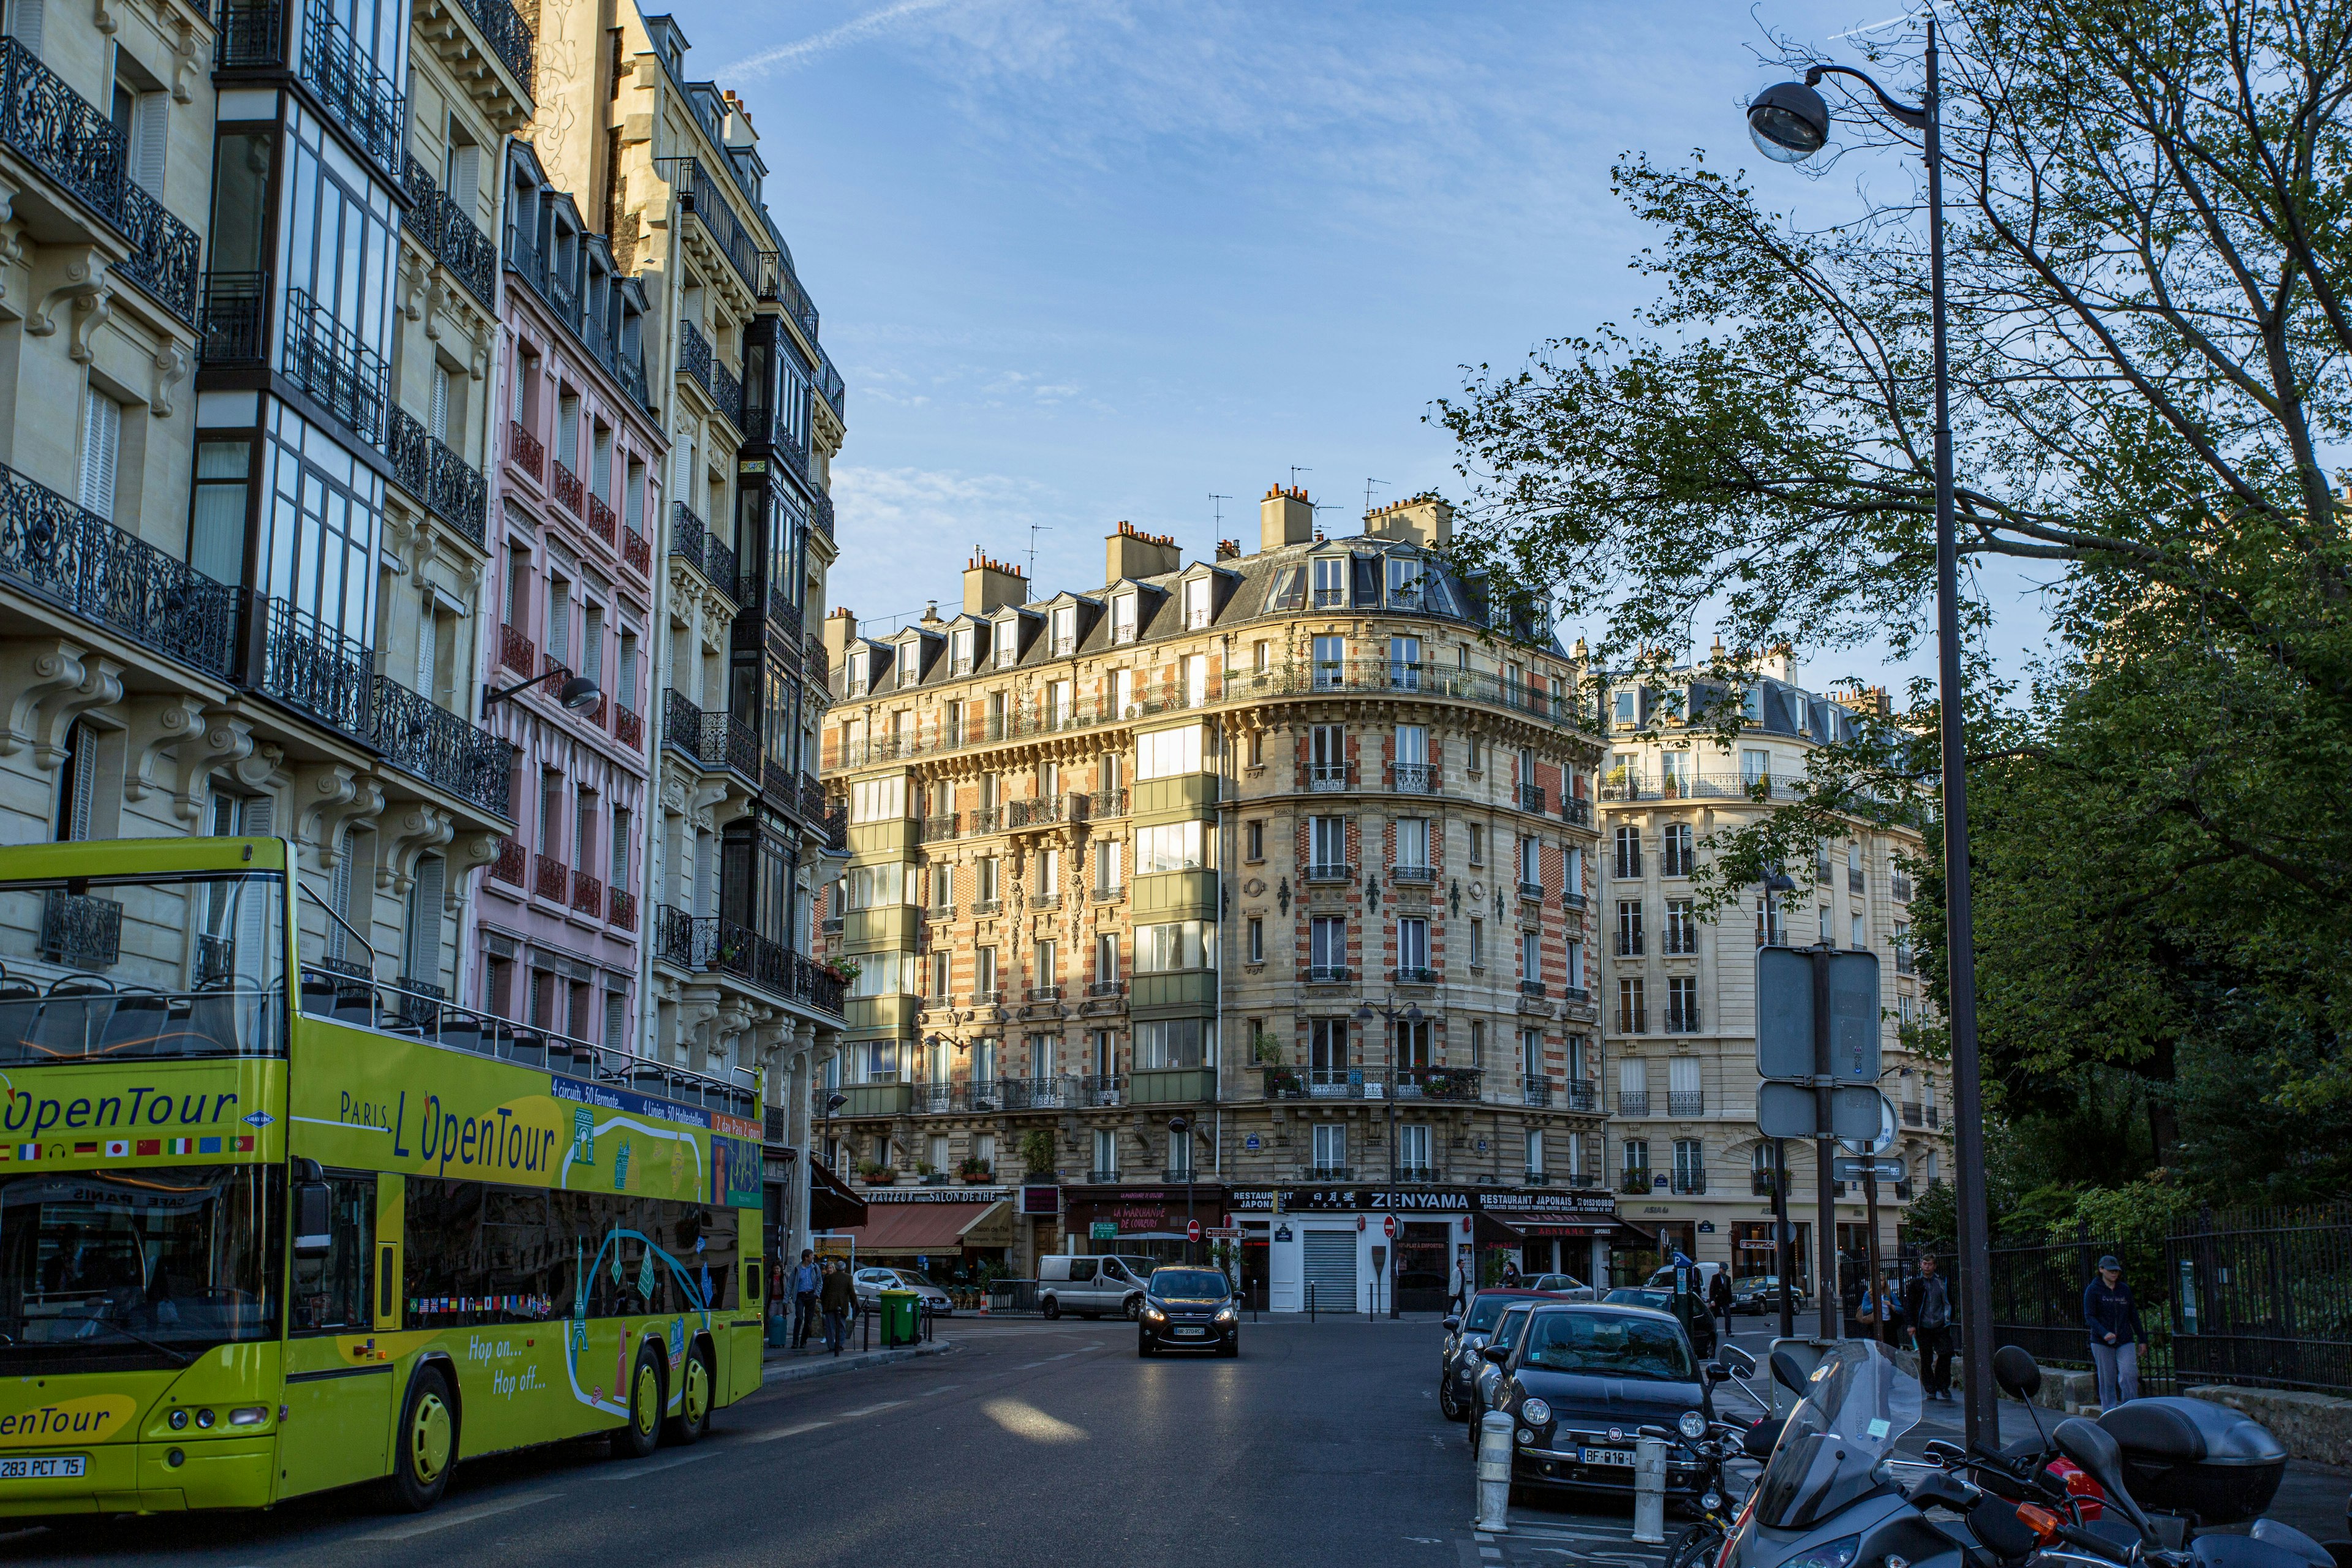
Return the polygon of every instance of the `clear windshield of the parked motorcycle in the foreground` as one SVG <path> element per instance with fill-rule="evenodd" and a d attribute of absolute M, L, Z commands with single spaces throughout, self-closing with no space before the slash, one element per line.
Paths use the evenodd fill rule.
<path fill-rule="evenodd" d="M 1870 1472 L 1919 1422 L 1919 1382 L 1870 1340 L 1832 1347 L 1757 1481 L 1757 1521 L 1806 1530 L 1877 1490 Z"/>

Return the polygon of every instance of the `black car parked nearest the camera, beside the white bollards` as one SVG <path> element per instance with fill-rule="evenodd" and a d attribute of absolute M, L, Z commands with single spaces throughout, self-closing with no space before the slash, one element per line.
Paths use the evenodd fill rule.
<path fill-rule="evenodd" d="M 1719 1368 L 1700 1368 L 1665 1312 L 1609 1302 L 1536 1307 L 1503 1361 L 1496 1408 L 1512 1418 L 1512 1486 L 1632 1493 L 1635 1436 L 1698 1436 L 1715 1420 Z M 1705 1469 L 1665 1450 L 1665 1495 L 1691 1500 Z"/>

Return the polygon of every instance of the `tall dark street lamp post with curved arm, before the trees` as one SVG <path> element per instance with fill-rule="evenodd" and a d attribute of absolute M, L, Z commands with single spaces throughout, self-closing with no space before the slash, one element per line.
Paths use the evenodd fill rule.
<path fill-rule="evenodd" d="M 1936 24 L 1926 24 L 1926 96 L 1915 108 L 1851 66 L 1813 66 L 1804 82 L 1780 82 L 1748 106 L 1748 132 L 1776 162 L 1799 162 L 1830 139 L 1830 108 L 1813 92 L 1825 75 L 1849 75 L 1879 108 L 1926 139 L 1929 308 L 1936 343 L 1936 696 L 1943 710 L 1943 886 L 1945 961 L 1952 1023 L 1952 1135 L 1959 1182 L 1962 1309 L 1959 1354 L 1969 1443 L 1992 1441 L 1999 1408 L 1992 1389 L 1992 1281 L 1985 1274 L 1985 1114 L 1976 1056 L 1976 933 L 1969 905 L 1969 776 L 1959 684 L 1959 543 L 1952 505 L 1952 367 L 1943 310 L 1943 94 L 1936 75 Z"/>

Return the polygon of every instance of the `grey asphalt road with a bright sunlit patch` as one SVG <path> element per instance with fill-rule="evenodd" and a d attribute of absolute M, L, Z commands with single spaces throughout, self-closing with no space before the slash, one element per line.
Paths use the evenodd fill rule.
<path fill-rule="evenodd" d="M 1470 1462 L 1432 1321 L 1244 1324 L 1242 1356 L 1136 1359 L 1122 1321 L 960 1321 L 955 1349 L 771 1385 L 694 1448 L 461 1465 L 430 1514 L 365 1493 L 259 1516 L 0 1535 L 0 1563 L 1334 1563 L 1456 1568 Z"/>

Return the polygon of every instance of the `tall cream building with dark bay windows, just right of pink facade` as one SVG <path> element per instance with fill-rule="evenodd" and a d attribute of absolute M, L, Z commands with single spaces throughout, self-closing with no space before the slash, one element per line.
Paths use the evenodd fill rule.
<path fill-rule="evenodd" d="M 828 465 L 844 440 L 844 393 L 769 216 L 750 113 L 715 82 L 691 80 L 687 59 L 670 16 L 590 0 L 539 9 L 532 158 L 548 188 L 569 193 L 581 230 L 600 235 L 588 242 L 590 280 L 607 263 L 630 280 L 612 294 L 614 343 L 616 360 L 644 367 L 644 386 L 616 390 L 654 418 L 647 444 L 630 451 L 659 458 L 642 473 L 614 458 L 623 588 L 621 609 L 607 604 L 600 654 L 619 661 L 633 693 L 644 661 L 644 708 L 630 719 L 642 715 L 649 780 L 642 804 L 628 806 L 644 853 L 635 867 L 616 851 L 607 860 L 619 827 L 583 839 L 557 823 L 553 842 L 579 846 L 574 900 L 583 870 L 609 870 L 604 936 L 619 926 L 612 884 L 635 877 L 642 889 L 633 1023 L 642 1048 L 722 1079 L 767 1074 L 769 1220 L 793 1246 L 807 1229 L 807 1164 L 793 1159 L 807 1147 L 816 1060 L 842 1027 L 840 980 L 809 954 L 818 867 L 840 851 L 840 825 L 816 783 L 828 698 L 807 625 L 826 611 L 835 559 Z M 517 378 L 536 411 L 532 386 Z M 555 400 L 557 440 L 590 442 L 581 454 L 593 468 L 593 418 L 564 411 L 560 381 L 541 374 L 536 386 Z M 612 425 L 614 451 L 628 444 L 626 423 Z M 546 440 L 536 425 L 529 435 Z M 581 489 L 581 470 L 569 475 L 564 484 Z M 626 508 L 640 503 L 633 520 Z M 628 529 L 654 562 L 642 625 L 628 621 L 640 571 Z M 564 790 L 579 816 L 576 785 Z M 630 783 L 619 792 L 597 797 L 595 823 L 640 799 Z"/>

